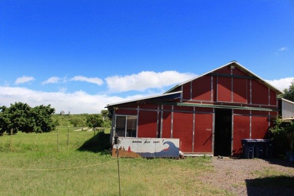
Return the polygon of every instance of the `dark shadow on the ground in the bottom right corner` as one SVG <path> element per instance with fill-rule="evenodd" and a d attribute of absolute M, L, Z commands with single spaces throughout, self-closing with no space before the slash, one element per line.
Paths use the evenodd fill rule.
<path fill-rule="evenodd" d="M 293 196 L 294 176 L 271 176 L 246 179 L 248 196 Z"/>

